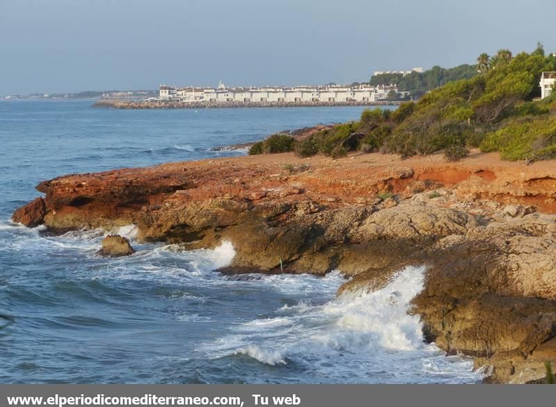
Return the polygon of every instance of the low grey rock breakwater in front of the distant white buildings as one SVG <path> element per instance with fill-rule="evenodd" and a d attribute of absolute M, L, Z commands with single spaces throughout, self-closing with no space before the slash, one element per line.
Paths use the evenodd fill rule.
<path fill-rule="evenodd" d="M 178 102 L 178 101 L 141 101 L 121 99 L 101 99 L 93 107 L 112 109 L 223 109 L 245 107 L 336 107 L 336 106 L 393 106 L 401 102 Z"/>

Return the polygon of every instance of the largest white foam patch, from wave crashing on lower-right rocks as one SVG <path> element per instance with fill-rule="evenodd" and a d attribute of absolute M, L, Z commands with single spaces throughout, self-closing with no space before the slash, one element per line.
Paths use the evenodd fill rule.
<path fill-rule="evenodd" d="M 281 307 L 276 317 L 239 324 L 204 351 L 213 358 L 242 354 L 272 366 L 302 365 L 332 383 L 475 381 L 480 374 L 472 372 L 471 360 L 446 358 L 425 344 L 419 317 L 408 314 L 424 271 L 408 267 L 375 292 Z"/>

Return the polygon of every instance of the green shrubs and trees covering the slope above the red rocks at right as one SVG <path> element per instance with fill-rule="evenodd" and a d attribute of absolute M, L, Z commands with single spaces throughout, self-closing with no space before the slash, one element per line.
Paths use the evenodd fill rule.
<path fill-rule="evenodd" d="M 556 92 L 539 98 L 541 74 L 556 70 L 556 56 L 546 56 L 541 45 L 516 56 L 501 49 L 495 56 L 481 54 L 477 67 L 474 77 L 445 83 L 418 102 L 404 102 L 395 111 L 367 109 L 358 122 L 280 145 L 299 157 L 359 150 L 406 158 L 443 150 L 457 161 L 469 147 L 480 147 L 512 161 L 556 158 Z M 252 154 L 278 152 L 269 140 L 254 146 Z"/>

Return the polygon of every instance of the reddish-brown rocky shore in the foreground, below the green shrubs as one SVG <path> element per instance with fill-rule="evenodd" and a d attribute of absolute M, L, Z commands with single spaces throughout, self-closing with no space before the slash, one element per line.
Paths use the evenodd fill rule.
<path fill-rule="evenodd" d="M 382 287 L 427 266 L 414 298 L 427 341 L 473 356 L 491 383 L 538 383 L 556 363 L 556 164 L 473 151 L 300 159 L 291 153 L 168 163 L 41 182 L 13 214 L 51 232 L 138 225 L 186 248 L 231 241 L 224 273 L 350 277 Z"/>

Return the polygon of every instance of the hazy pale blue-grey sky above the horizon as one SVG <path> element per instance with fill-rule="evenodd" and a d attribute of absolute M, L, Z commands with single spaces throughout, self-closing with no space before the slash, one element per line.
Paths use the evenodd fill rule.
<path fill-rule="evenodd" d="M 0 95 L 368 81 L 556 51 L 553 0 L 0 0 Z"/>

